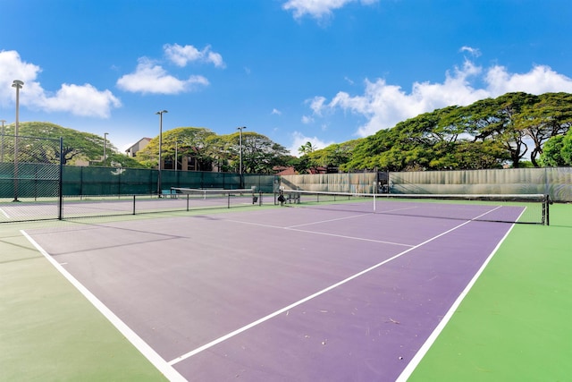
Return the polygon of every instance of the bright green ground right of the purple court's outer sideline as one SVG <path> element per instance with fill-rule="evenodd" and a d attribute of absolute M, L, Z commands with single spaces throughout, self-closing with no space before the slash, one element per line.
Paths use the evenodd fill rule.
<path fill-rule="evenodd" d="M 572 376 L 572 205 L 515 225 L 409 381 Z"/>

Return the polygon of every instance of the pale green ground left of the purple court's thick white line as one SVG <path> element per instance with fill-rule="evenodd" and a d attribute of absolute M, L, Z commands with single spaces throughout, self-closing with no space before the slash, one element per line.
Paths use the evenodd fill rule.
<path fill-rule="evenodd" d="M 166 380 L 20 233 L 62 224 L 0 225 L 0 380 Z"/>

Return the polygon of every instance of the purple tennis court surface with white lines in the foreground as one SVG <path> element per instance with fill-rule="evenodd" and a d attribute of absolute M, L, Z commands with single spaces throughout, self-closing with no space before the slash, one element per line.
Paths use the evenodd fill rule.
<path fill-rule="evenodd" d="M 408 204 L 415 216 L 363 206 L 25 234 L 172 380 L 405 380 L 512 225 L 479 221 L 491 205 L 437 208 L 455 218 L 429 203 Z"/>

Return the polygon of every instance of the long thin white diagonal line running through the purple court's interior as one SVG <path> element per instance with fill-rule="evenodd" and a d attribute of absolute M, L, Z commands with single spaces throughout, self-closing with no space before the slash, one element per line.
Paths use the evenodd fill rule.
<path fill-rule="evenodd" d="M 488 211 L 488 212 L 484 213 L 483 215 L 486 215 L 486 214 L 488 214 L 489 212 L 491 212 L 491 211 Z M 481 216 L 483 216 L 483 215 L 476 216 L 474 219 L 478 219 L 479 217 L 481 217 Z M 355 278 L 357 278 L 357 277 L 359 277 L 359 276 L 363 276 L 363 275 L 365 275 L 366 273 L 369 273 L 369 272 L 373 271 L 374 269 L 376 269 L 376 268 L 378 268 L 378 267 L 382 267 L 384 264 L 387 264 L 387 263 L 389 263 L 390 261 L 392 261 L 392 260 L 394 260 L 394 259 L 399 259 L 401 256 L 405 255 L 406 253 L 410 252 L 411 250 L 416 250 L 417 248 L 420 248 L 420 247 L 424 246 L 425 244 L 427 244 L 427 243 L 429 243 L 429 242 L 433 242 L 434 240 L 436 240 L 436 239 L 438 239 L 438 238 L 440 238 L 440 237 L 442 237 L 442 236 L 444 236 L 444 235 L 446 235 L 446 234 L 448 234 L 448 233 L 451 233 L 451 232 L 457 230 L 458 228 L 460 228 L 460 227 L 462 227 L 462 226 L 464 226 L 464 225 L 467 225 L 467 224 L 469 224 L 469 223 L 471 223 L 471 222 L 473 222 L 473 221 L 474 221 L 474 220 L 467 220 L 466 222 L 461 223 L 460 225 L 456 225 L 456 226 L 454 226 L 453 228 L 450 228 L 449 230 L 447 230 L 447 231 L 445 231 L 445 232 L 443 232 L 443 233 L 440 233 L 440 234 L 438 234 L 438 235 L 433 236 L 432 238 L 426 240 L 425 242 L 421 242 L 421 243 L 417 244 L 415 247 L 409 248 L 408 250 L 403 250 L 402 252 L 398 253 L 397 255 L 391 257 L 390 259 L 385 259 L 385 260 L 383 260 L 382 262 L 380 262 L 380 263 L 378 263 L 378 264 L 375 264 L 373 267 L 368 267 L 367 269 L 364 269 L 364 270 L 362 270 L 361 272 L 358 272 L 357 274 L 355 274 L 355 275 L 353 275 L 353 276 L 349 276 L 349 277 L 347 277 L 347 278 L 341 280 L 340 282 L 338 282 L 338 283 L 336 283 L 336 284 L 332 284 L 332 285 L 328 286 L 327 288 L 324 288 L 323 290 L 321 290 L 321 291 L 319 291 L 319 292 L 316 292 L 316 293 L 314 293 L 314 294 L 311 294 L 311 295 L 307 296 L 306 298 L 304 298 L 304 299 L 302 299 L 302 300 L 296 301 L 296 302 L 294 302 L 294 303 L 292 303 L 292 304 L 290 304 L 290 305 L 288 305 L 288 306 L 286 306 L 286 307 L 284 307 L 284 308 L 282 308 L 282 309 L 280 309 L 280 310 L 276 310 L 276 311 L 274 311 L 273 313 L 270 313 L 269 315 L 267 315 L 267 316 L 265 316 L 265 317 L 263 317 L 263 318 L 259 318 L 259 319 L 257 319 L 256 321 L 251 322 L 250 324 L 248 324 L 248 325 L 246 325 L 246 326 L 244 326 L 244 327 L 240 327 L 240 328 L 238 328 L 238 329 L 232 331 L 231 333 L 228 333 L 228 334 L 223 335 L 223 336 L 221 336 L 221 337 L 219 337 L 219 338 L 216 338 L 216 339 L 214 339 L 213 341 L 211 341 L 210 343 L 207 343 L 207 344 L 204 344 L 204 345 L 202 345 L 202 346 L 199 346 L 197 349 L 192 350 L 192 351 L 190 351 L 190 352 L 186 352 L 186 353 L 182 354 L 181 356 L 179 356 L 179 357 L 173 359 L 172 361 L 169 361 L 169 365 L 175 365 L 175 364 L 177 364 L 177 363 L 179 363 L 179 362 L 181 362 L 181 361 L 187 360 L 188 358 L 190 358 L 190 357 L 192 357 L 192 356 L 198 354 L 199 352 L 204 352 L 204 351 L 206 351 L 207 349 L 210 349 L 211 347 L 213 347 L 214 345 L 220 344 L 220 343 L 222 343 L 223 341 L 226 341 L 226 340 L 228 340 L 229 338 L 231 338 L 231 337 L 233 337 L 233 336 L 235 336 L 235 335 L 240 335 L 241 333 L 247 331 L 248 329 L 250 329 L 250 328 L 252 328 L 252 327 L 257 327 L 258 325 L 264 323 L 265 321 L 267 321 L 267 320 L 269 320 L 269 319 L 271 319 L 271 318 L 274 318 L 274 317 L 276 317 L 276 316 L 278 316 L 278 315 L 280 315 L 280 314 L 282 314 L 282 313 L 284 313 L 284 312 L 287 312 L 288 310 L 293 309 L 293 308 L 295 308 L 295 307 L 297 307 L 297 306 L 303 304 L 304 302 L 307 302 L 307 301 L 310 301 L 310 300 L 312 300 L 312 299 L 315 299 L 316 297 L 318 297 L 318 296 L 320 296 L 320 295 L 322 295 L 322 294 L 324 294 L 324 293 L 327 293 L 327 292 L 331 291 L 332 289 L 337 288 L 338 286 L 341 286 L 341 285 L 343 285 L 343 284 L 347 284 L 347 283 L 349 283 L 349 281 L 351 281 L 351 280 L 353 280 L 353 279 L 355 279 Z"/>

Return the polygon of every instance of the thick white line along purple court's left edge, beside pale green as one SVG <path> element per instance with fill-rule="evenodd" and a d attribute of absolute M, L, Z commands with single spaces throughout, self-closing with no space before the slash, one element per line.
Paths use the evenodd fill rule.
<path fill-rule="evenodd" d="M 32 239 L 28 233 L 23 230 L 20 232 L 26 237 L 26 239 L 28 239 L 29 242 L 32 243 L 32 245 L 34 245 L 34 247 L 36 247 L 37 250 L 42 253 L 42 255 L 44 255 L 44 257 L 55 267 L 55 269 L 57 269 L 73 286 L 75 286 L 78 291 L 80 291 L 80 293 L 83 294 L 86 299 L 88 299 L 88 301 L 91 302 L 96 307 L 96 309 L 99 310 L 105 316 L 105 318 L 107 318 L 114 325 L 114 327 L 116 327 L 122 333 L 122 335 L 124 335 L 130 341 L 130 343 L 133 344 L 139 350 L 139 352 L 141 352 L 147 358 L 147 360 L 156 367 L 156 369 L 161 371 L 161 373 L 163 373 L 166 378 L 171 381 L 187 380 L 186 378 L 183 378 L 177 370 L 172 368 L 169 363 L 165 362 L 164 359 L 157 352 L 155 352 L 151 346 L 143 341 L 139 335 L 131 330 L 131 328 L 128 327 L 121 320 L 121 318 L 115 316 L 113 311 L 107 308 L 105 304 L 97 299 L 93 293 L 89 292 L 88 288 L 81 284 L 74 276 L 71 276 L 71 273 L 62 267 L 61 264 L 55 261 L 55 259 L 52 258 L 46 252 L 46 250 L 40 247 L 40 245 L 34 239 Z"/>

